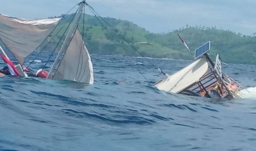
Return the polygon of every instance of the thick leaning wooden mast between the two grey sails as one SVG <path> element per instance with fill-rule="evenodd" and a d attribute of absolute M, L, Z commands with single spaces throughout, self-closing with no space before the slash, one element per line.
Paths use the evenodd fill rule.
<path fill-rule="evenodd" d="M 58 65 L 58 63 L 60 63 L 60 61 L 62 60 L 62 54 L 65 53 L 65 51 L 70 43 L 70 40 L 72 39 L 72 36 L 74 35 L 74 32 L 76 31 L 76 26 L 79 22 L 80 16 L 82 15 L 83 8 L 84 8 L 85 4 L 86 4 L 85 0 L 83 0 L 82 2 L 80 2 L 78 4 L 79 5 L 78 12 L 76 13 L 74 21 L 73 21 L 73 23 L 68 31 L 68 34 L 66 36 L 66 39 L 64 40 L 62 47 L 60 48 L 60 51 L 52 65 L 52 68 L 49 71 L 47 78 L 50 78 L 52 76 L 54 69 L 56 68 L 56 65 Z"/>

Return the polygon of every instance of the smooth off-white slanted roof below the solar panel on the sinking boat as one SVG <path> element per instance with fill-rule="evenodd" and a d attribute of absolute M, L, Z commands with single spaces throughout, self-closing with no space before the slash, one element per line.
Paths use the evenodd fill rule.
<path fill-rule="evenodd" d="M 198 59 L 186 68 L 154 84 L 159 90 L 179 93 L 200 80 L 208 70 L 206 57 Z"/>

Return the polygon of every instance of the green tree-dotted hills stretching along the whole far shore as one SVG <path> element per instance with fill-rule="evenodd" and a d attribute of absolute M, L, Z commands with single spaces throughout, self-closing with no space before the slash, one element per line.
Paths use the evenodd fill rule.
<path fill-rule="evenodd" d="M 63 24 L 67 25 L 71 16 L 65 16 L 58 28 Z M 191 54 L 177 36 L 179 33 L 193 53 L 194 49 L 211 41 L 212 58 L 219 53 L 224 62 L 256 64 L 256 37 L 242 36 L 241 33 L 236 34 L 214 27 L 188 27 L 188 25 L 186 28 L 169 33 L 150 33 L 132 22 L 114 18 L 104 18 L 104 20 L 146 57 L 192 60 Z M 86 23 L 84 41 L 90 54 L 140 56 L 102 20 L 107 30 L 94 16 L 85 15 L 84 22 Z M 83 31 L 82 24 L 83 19 L 80 21 L 80 31 Z"/>

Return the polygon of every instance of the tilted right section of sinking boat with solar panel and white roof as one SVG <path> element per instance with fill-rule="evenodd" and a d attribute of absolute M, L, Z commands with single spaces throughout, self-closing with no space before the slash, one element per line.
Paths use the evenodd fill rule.
<path fill-rule="evenodd" d="M 188 48 L 183 39 L 182 42 Z M 159 90 L 192 96 L 228 100 L 242 98 L 244 94 L 241 90 L 245 88 L 222 71 L 220 56 L 216 55 L 214 63 L 208 51 L 210 51 L 210 41 L 195 50 L 193 63 L 156 82 L 154 86 Z"/>

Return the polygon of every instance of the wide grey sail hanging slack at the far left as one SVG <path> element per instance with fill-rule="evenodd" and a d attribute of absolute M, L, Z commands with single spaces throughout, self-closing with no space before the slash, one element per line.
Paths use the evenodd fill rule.
<path fill-rule="evenodd" d="M 29 20 L 0 14 L 0 39 L 22 65 L 48 37 L 61 18 Z"/>

